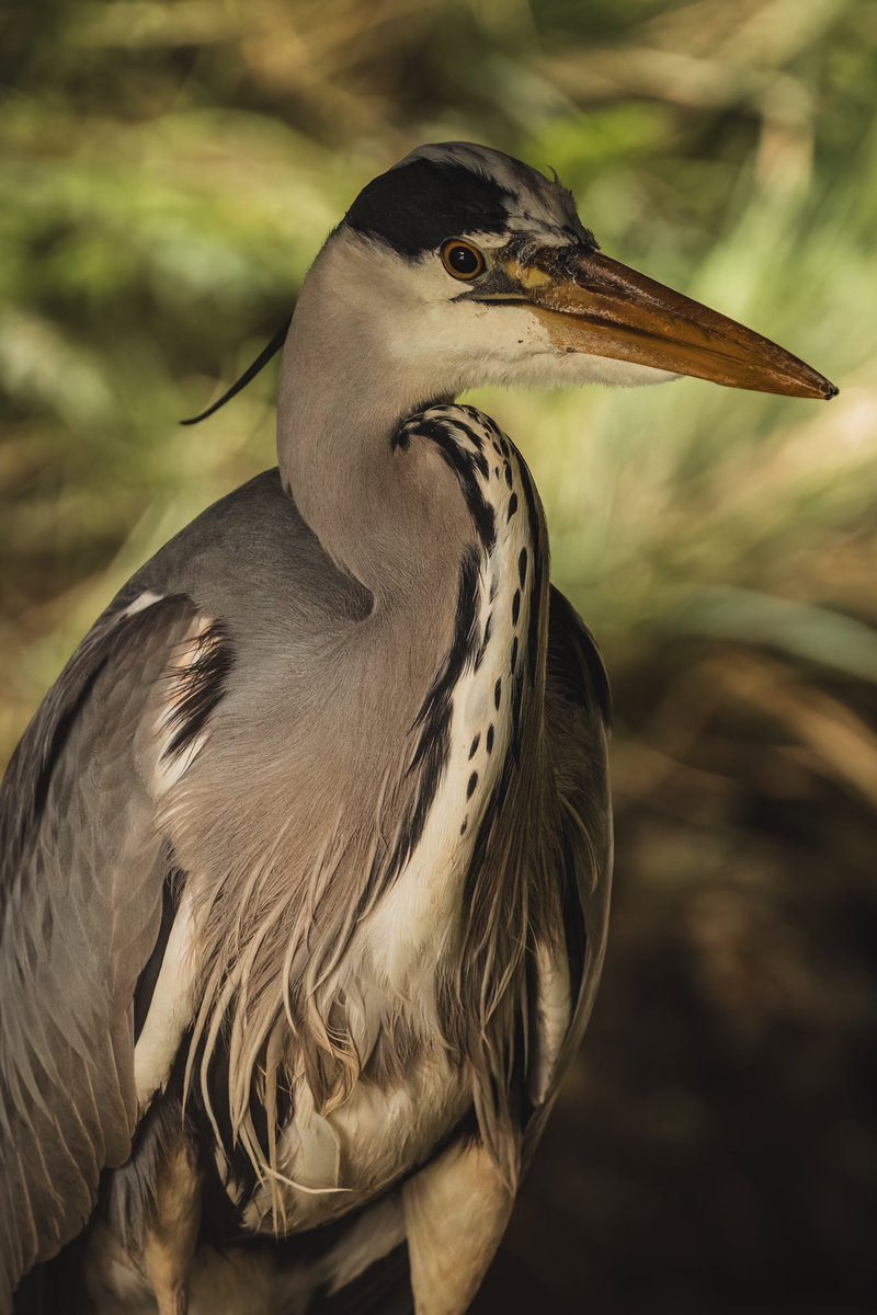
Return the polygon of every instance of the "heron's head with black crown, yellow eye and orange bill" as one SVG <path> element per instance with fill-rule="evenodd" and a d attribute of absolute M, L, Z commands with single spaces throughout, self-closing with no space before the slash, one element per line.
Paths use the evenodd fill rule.
<path fill-rule="evenodd" d="M 556 176 L 483 146 L 422 146 L 373 179 L 327 256 L 341 301 L 379 322 L 400 370 L 422 360 L 435 392 L 680 375 L 838 392 L 782 347 L 604 255 Z"/>

